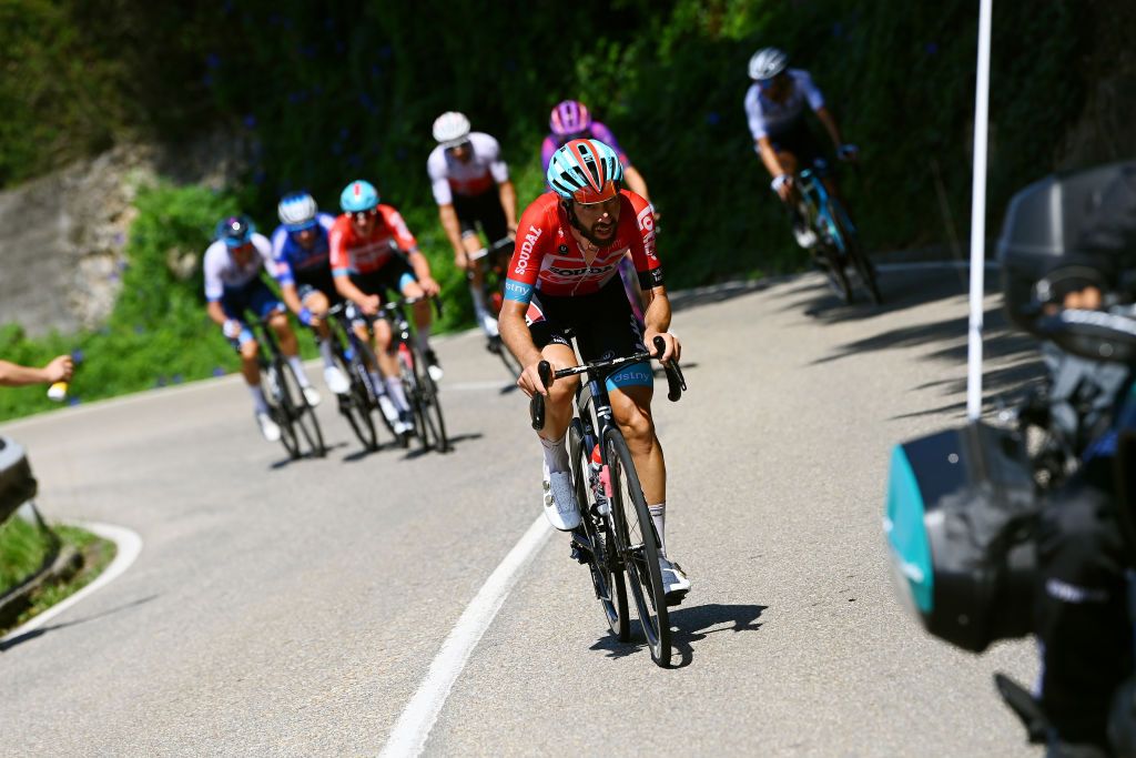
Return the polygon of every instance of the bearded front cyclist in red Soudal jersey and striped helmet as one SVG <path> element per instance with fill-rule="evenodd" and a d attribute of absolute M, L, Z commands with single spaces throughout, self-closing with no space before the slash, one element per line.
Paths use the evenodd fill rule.
<path fill-rule="evenodd" d="M 553 155 L 552 192 L 520 218 L 499 320 L 502 340 L 525 367 L 517 384 L 529 397 L 546 395 L 544 428 L 537 433 L 544 451 L 544 515 L 562 531 L 580 522 L 565 439 L 579 380 L 557 380 L 545 389 L 537 365 L 575 366 L 571 336 L 585 361 L 634 355 L 655 336 L 666 342 L 663 360 L 679 355 L 678 339 L 667 332 L 670 301 L 655 253 L 654 215 L 646 200 L 619 189 L 621 178 L 615 151 L 598 140 L 574 140 Z M 628 252 L 646 300 L 642 332 L 617 274 Z M 635 364 L 609 376 L 607 386 L 662 543 L 668 601 L 680 601 L 691 583 L 667 557 L 667 469 L 651 417 L 653 372 L 648 363 Z"/>

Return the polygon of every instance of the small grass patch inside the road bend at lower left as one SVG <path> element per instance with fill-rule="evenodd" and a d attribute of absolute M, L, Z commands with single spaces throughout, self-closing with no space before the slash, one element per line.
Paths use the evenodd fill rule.
<path fill-rule="evenodd" d="M 64 545 L 74 548 L 82 560 L 77 570 L 36 588 L 28 606 L 10 627 L 0 626 L 0 634 L 40 615 L 90 584 L 115 559 L 115 544 L 75 526 L 55 526 L 52 531 Z M 0 594 L 16 586 L 37 570 L 50 551 L 47 536 L 37 526 L 22 518 L 10 518 L 0 526 Z"/>

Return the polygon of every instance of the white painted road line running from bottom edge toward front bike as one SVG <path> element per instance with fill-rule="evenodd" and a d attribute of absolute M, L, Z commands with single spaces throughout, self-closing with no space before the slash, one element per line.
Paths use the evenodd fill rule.
<path fill-rule="evenodd" d="M 469 655 L 501 609 L 521 569 L 544 544 L 551 532 L 544 516 L 538 516 L 501 565 L 485 580 L 485 584 L 461 614 L 450 636 L 442 643 L 442 649 L 431 663 L 426 678 L 418 685 L 415 697 L 395 722 L 391 736 L 379 753 L 381 758 L 403 758 L 421 753 L 426 738 L 429 736 L 429 731 L 434 727 L 434 722 L 437 720 L 453 683 L 466 667 Z"/>

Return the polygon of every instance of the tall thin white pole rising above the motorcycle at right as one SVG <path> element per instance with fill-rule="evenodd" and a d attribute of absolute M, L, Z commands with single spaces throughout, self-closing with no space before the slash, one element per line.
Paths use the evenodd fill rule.
<path fill-rule="evenodd" d="M 986 131 L 991 90 L 991 8 L 978 11 L 978 72 L 975 86 L 975 169 L 970 206 L 970 335 L 967 355 L 967 417 L 983 415 L 983 294 L 986 264 Z"/>

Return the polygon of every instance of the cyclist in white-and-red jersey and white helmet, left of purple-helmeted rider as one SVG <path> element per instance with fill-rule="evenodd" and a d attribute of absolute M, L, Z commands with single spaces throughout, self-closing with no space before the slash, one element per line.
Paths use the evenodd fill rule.
<path fill-rule="evenodd" d="M 437 147 L 426 160 L 426 172 L 437 215 L 453 245 L 454 265 L 469 276 L 477 324 L 492 339 L 498 334 L 496 320 L 485 307 L 485 274 L 476 263 L 487 248 L 477 236 L 477 226 L 490 244 L 511 236 L 517 230 L 517 191 L 501 145 L 484 132 L 470 132 L 465 115 L 438 116 L 434 139 Z"/>

